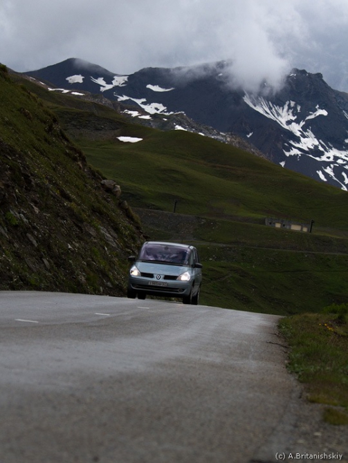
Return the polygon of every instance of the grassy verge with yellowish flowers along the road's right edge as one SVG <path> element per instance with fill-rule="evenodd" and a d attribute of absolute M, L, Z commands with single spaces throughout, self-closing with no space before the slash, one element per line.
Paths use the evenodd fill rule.
<path fill-rule="evenodd" d="M 288 368 L 306 385 L 308 399 L 329 405 L 325 421 L 348 424 L 348 304 L 282 319 L 280 330 L 291 346 Z"/>

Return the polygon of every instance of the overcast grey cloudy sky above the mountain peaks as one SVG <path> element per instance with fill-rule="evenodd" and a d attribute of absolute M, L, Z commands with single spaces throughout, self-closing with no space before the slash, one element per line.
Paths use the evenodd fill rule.
<path fill-rule="evenodd" d="M 232 59 L 252 87 L 292 67 L 348 91 L 348 0 L 0 0 L 0 62 L 77 57 L 114 73 Z"/>

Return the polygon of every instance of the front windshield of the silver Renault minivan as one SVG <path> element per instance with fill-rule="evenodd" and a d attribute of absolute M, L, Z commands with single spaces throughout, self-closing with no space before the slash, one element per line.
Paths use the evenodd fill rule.
<path fill-rule="evenodd" d="M 139 260 L 187 265 L 189 256 L 190 250 L 185 247 L 161 243 L 147 243 L 143 245 L 140 251 Z"/>

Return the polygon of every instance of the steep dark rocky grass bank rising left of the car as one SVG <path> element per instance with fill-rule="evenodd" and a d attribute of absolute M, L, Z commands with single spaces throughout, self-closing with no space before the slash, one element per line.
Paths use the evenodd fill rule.
<path fill-rule="evenodd" d="M 0 70 L 0 289 L 125 294 L 143 240 L 57 117 Z"/>

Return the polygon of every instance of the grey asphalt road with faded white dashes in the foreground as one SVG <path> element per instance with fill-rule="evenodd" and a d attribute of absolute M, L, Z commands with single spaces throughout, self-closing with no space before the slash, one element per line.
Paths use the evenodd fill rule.
<path fill-rule="evenodd" d="M 277 319 L 0 292 L 0 462 L 275 461 L 297 393 Z"/>

